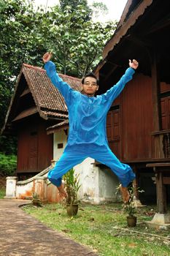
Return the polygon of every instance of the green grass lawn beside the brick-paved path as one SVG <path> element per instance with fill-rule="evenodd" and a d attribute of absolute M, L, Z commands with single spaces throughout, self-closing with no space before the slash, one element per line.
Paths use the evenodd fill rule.
<path fill-rule="evenodd" d="M 74 218 L 68 217 L 66 209 L 60 204 L 47 204 L 42 208 L 29 205 L 23 209 L 54 230 L 80 244 L 90 246 L 98 255 L 170 255 L 170 231 L 151 230 L 144 225 L 144 221 L 151 220 L 155 214 L 153 206 L 139 209 L 136 215 L 138 224 L 133 228 L 127 227 L 120 203 L 100 206 L 81 204 L 78 215 Z M 133 230 L 143 234 L 133 233 Z M 154 234 L 158 237 L 153 236 Z"/>

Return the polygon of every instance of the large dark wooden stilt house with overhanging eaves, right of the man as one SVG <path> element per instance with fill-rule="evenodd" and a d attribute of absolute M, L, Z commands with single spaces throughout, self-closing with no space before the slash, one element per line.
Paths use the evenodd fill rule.
<path fill-rule="evenodd" d="M 128 59 L 139 61 L 109 110 L 107 134 L 112 151 L 134 168 L 141 199 L 156 200 L 157 189 L 159 212 L 170 202 L 169 34 L 170 1 L 129 0 L 95 69 L 101 94 L 117 83 Z"/>

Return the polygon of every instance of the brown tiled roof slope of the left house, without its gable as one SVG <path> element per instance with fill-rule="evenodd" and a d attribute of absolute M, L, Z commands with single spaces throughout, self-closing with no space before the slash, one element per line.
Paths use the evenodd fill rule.
<path fill-rule="evenodd" d="M 66 104 L 63 96 L 58 89 L 53 86 L 46 75 L 45 69 L 23 64 L 23 74 L 31 89 L 36 105 L 47 113 L 50 110 L 56 110 L 61 113 L 67 113 Z M 73 89 L 81 91 L 81 80 L 69 75 L 61 75 L 61 78 L 72 86 Z M 50 113 L 51 114 L 51 113 Z"/>

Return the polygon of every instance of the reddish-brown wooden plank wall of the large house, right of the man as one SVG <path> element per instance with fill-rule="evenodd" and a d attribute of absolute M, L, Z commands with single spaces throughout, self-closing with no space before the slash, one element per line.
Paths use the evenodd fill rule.
<path fill-rule="evenodd" d="M 152 84 L 151 78 L 136 75 L 113 103 L 107 118 L 109 146 L 122 161 L 139 161 L 151 158 Z M 116 117 L 112 121 L 110 116 Z M 119 140 L 110 140 L 109 123 Z M 115 124 L 116 123 L 116 124 Z M 119 123 L 119 124 L 117 124 Z M 116 125 L 116 126 L 115 126 Z M 114 137 L 114 135 L 112 135 Z"/>

